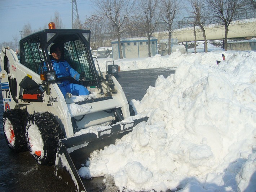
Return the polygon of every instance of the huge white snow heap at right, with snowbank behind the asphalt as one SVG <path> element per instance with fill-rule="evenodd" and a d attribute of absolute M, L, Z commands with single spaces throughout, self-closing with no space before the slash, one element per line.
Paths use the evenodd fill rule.
<path fill-rule="evenodd" d="M 149 120 L 91 153 L 81 177 L 111 177 L 120 191 L 256 191 L 256 52 L 175 52 L 115 64 L 177 68 L 131 101 Z"/>

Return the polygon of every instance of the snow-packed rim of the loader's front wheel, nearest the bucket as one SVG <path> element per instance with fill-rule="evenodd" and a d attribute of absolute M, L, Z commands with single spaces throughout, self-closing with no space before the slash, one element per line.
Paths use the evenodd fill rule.
<path fill-rule="evenodd" d="M 43 157 L 44 156 L 44 142 L 41 137 L 41 132 L 36 125 L 30 125 L 27 129 L 29 148 L 31 154 Z"/>

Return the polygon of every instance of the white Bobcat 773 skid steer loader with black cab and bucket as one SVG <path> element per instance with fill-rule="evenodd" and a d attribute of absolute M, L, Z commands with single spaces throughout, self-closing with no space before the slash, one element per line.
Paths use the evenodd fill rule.
<path fill-rule="evenodd" d="M 78 169 L 96 149 L 115 143 L 147 117 L 130 116 L 118 66 L 106 71 L 94 64 L 89 30 L 46 29 L 20 40 L 20 61 L 13 50 L 0 54 L 6 142 L 16 152 L 29 150 L 42 165 L 54 165 L 56 176 L 76 191 L 102 191 L 102 178 L 81 179 Z M 80 74 L 90 95 L 65 98 L 49 55 L 53 44 L 63 45 L 62 58 Z M 97 67 L 97 69 L 96 69 Z"/>

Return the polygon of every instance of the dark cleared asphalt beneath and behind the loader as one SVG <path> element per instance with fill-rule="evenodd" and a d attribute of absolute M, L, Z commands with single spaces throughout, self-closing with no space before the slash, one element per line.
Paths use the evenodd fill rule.
<path fill-rule="evenodd" d="M 149 69 L 120 72 L 119 82 L 127 100 L 141 100 L 158 75 L 173 74 L 175 69 Z M 1 94 L 0 94 L 1 95 Z M 53 173 L 53 166 L 38 165 L 29 152 L 14 153 L 3 134 L 3 99 L 0 98 L 0 191 L 74 191 Z"/>

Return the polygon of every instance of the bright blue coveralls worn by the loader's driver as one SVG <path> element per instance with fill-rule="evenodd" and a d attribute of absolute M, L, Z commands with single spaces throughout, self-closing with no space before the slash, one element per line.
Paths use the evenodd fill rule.
<path fill-rule="evenodd" d="M 56 60 L 52 60 L 53 70 L 56 71 L 57 78 L 60 77 L 73 77 L 75 80 L 79 81 L 80 74 L 76 72 L 73 68 L 70 67 L 69 63 L 65 60 L 61 60 L 57 62 Z M 59 89 L 62 94 L 66 95 L 66 93 L 71 93 L 72 95 L 89 95 L 89 91 L 82 85 L 70 83 L 69 80 L 64 80 L 57 82 Z"/>

